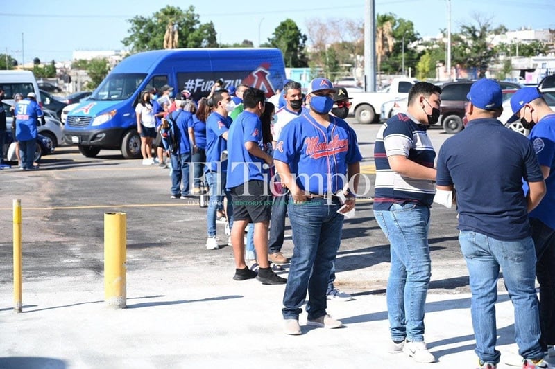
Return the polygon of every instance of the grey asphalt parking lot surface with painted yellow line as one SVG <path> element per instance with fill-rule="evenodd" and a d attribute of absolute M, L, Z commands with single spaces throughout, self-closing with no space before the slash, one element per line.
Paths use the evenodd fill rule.
<path fill-rule="evenodd" d="M 349 119 L 351 120 L 351 119 Z M 373 147 L 379 125 L 355 128 L 364 162 L 362 172 L 374 181 Z M 448 137 L 429 130 L 439 149 Z M 12 281 L 12 199 L 22 200 L 24 277 L 56 280 L 60 276 L 103 274 L 104 213 L 127 217 L 128 271 L 196 264 L 234 271 L 232 250 L 207 251 L 206 208 L 198 199 L 170 199 L 169 170 L 124 160 L 117 151 L 103 150 L 85 158 L 74 146 L 62 146 L 44 156 L 40 170 L 17 168 L 0 172 L 0 286 Z M 369 195 L 373 195 L 373 188 Z M 336 285 L 357 294 L 384 294 L 388 276 L 388 244 L 372 212 L 372 201 L 357 204 L 357 216 L 346 219 L 336 262 Z M 225 240 L 223 225 L 219 237 Z M 432 250 L 430 293 L 468 291 L 468 273 L 456 238 L 454 210 L 434 206 L 429 233 Z M 291 255 L 291 228 L 286 229 L 284 253 Z"/>

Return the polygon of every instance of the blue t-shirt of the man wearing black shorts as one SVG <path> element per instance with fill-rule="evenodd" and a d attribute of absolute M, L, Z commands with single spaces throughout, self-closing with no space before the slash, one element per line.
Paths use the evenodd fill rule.
<path fill-rule="evenodd" d="M 251 141 L 264 151 L 260 118 L 250 111 L 243 111 L 233 121 L 228 135 L 230 150 L 226 186 L 234 188 L 248 181 L 267 181 L 267 176 L 264 176 L 267 170 L 262 168 L 264 159 L 250 154 L 245 147 L 245 143 Z"/>

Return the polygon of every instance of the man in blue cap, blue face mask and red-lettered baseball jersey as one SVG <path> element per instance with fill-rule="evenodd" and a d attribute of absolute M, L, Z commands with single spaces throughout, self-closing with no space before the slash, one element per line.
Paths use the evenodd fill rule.
<path fill-rule="evenodd" d="M 289 189 L 294 247 L 282 314 L 284 332 L 293 335 L 301 334 L 298 318 L 307 291 L 308 325 L 342 326 L 327 315 L 327 282 L 341 243 L 341 213 L 355 208 L 362 160 L 355 131 L 330 115 L 332 82 L 316 78 L 310 87 L 309 111 L 283 127 L 274 150 L 275 168 Z M 343 206 L 339 192 L 347 196 Z"/>

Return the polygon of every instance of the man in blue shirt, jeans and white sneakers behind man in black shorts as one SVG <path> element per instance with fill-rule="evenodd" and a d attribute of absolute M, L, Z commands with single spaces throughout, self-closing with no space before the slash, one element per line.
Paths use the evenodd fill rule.
<path fill-rule="evenodd" d="M 228 215 L 230 227 L 233 224 L 231 195 L 225 190 L 226 173 L 228 171 L 228 131 L 231 125 L 231 118 L 228 113 L 232 111 L 234 105 L 231 104 L 231 97 L 227 90 L 221 89 L 214 91 L 207 100 L 207 104 L 212 111 L 206 120 L 206 169 L 205 179 L 210 187 L 210 201 L 207 210 L 208 238 L 206 249 L 214 250 L 219 248 L 218 238 L 216 237 L 216 210 L 223 201 L 223 196 L 228 199 L 228 206 L 225 213 Z M 230 245 L 230 240 L 228 244 Z"/>

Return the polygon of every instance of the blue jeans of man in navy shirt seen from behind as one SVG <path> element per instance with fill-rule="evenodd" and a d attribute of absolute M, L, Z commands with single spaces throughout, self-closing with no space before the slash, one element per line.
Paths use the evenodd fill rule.
<path fill-rule="evenodd" d="M 499 267 L 515 309 L 515 341 L 518 354 L 526 359 L 543 358 L 540 348 L 540 318 L 536 297 L 536 251 L 532 237 L 500 241 L 473 231 L 459 232 L 472 292 L 472 327 L 476 354 L 481 361 L 499 362 L 495 350 L 495 301 Z"/>

